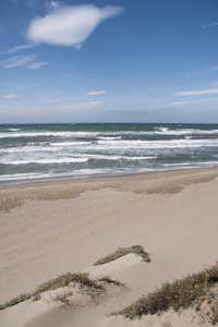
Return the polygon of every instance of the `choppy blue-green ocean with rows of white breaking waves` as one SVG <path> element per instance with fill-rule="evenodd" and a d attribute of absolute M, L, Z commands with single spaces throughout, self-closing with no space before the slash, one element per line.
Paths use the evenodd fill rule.
<path fill-rule="evenodd" d="M 218 166 L 218 124 L 0 125 L 0 185 Z"/>

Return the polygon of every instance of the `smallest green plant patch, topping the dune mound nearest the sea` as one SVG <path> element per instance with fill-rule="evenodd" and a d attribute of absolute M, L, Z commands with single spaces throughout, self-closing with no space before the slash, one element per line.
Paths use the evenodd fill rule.
<path fill-rule="evenodd" d="M 141 245 L 133 245 L 131 247 L 119 247 L 114 253 L 112 254 L 109 254 L 108 256 L 99 259 L 98 262 L 96 262 L 94 264 L 94 266 L 98 266 L 98 265 L 104 265 L 106 263 L 109 263 L 109 262 L 112 262 L 112 261 L 116 261 L 117 258 L 123 256 L 123 255 L 126 255 L 129 253 L 135 253 L 140 256 L 142 256 L 142 258 L 149 263 L 150 259 L 148 257 L 148 253 L 146 253 L 143 249 L 143 246 Z"/>

